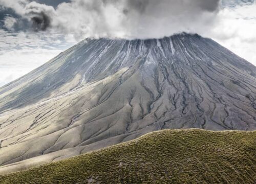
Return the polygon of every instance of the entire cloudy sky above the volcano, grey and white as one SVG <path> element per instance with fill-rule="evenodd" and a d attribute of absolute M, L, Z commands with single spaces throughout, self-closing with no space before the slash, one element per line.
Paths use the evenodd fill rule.
<path fill-rule="evenodd" d="M 256 65 L 254 0 L 0 0 L 0 86 L 78 41 L 198 33 Z"/>

